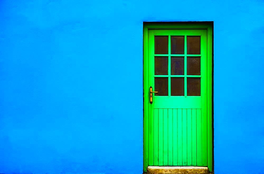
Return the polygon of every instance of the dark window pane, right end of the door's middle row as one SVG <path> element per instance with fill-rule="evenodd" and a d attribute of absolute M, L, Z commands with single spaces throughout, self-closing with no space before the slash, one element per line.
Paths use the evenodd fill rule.
<path fill-rule="evenodd" d="M 187 57 L 187 75 L 201 75 L 200 57 Z"/>

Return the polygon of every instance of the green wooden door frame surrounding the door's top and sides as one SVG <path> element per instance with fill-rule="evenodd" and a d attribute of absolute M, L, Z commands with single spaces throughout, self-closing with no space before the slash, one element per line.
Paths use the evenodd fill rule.
<path fill-rule="evenodd" d="M 143 24 L 143 172 L 148 168 L 148 30 L 149 29 L 206 29 L 207 30 L 207 120 L 208 120 L 208 168 L 213 171 L 213 26 L 211 23 L 144 23 Z"/>

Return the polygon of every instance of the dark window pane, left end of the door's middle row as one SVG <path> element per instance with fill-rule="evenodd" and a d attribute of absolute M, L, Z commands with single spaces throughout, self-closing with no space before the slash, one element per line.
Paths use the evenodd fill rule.
<path fill-rule="evenodd" d="M 155 75 L 168 75 L 168 57 L 155 57 Z"/>

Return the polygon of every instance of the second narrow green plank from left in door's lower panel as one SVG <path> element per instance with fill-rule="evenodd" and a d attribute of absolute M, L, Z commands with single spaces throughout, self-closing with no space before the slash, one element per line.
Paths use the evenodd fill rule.
<path fill-rule="evenodd" d="M 159 166 L 163 166 L 163 109 L 159 109 Z"/>

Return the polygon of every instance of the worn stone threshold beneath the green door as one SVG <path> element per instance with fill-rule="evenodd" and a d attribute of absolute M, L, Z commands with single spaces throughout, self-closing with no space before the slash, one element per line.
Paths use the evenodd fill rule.
<path fill-rule="evenodd" d="M 210 173 L 208 167 L 200 166 L 148 166 L 147 174 L 202 174 Z"/>

